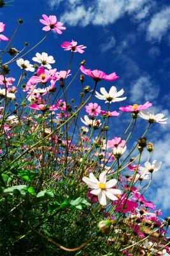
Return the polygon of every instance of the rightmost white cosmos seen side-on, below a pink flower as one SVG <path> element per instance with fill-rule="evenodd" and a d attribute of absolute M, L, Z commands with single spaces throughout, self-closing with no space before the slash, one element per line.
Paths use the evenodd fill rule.
<path fill-rule="evenodd" d="M 154 115 L 153 112 L 139 112 L 138 114 L 141 118 L 148 120 L 150 124 L 152 123 L 160 123 L 160 124 L 167 124 L 167 118 L 164 118 L 164 114 L 157 114 Z"/>

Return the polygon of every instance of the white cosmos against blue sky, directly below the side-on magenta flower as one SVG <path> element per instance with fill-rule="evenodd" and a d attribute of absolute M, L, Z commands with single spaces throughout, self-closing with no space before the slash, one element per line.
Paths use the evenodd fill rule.
<path fill-rule="evenodd" d="M 96 92 L 95 96 L 99 100 L 106 100 L 105 103 L 117 102 L 117 101 L 125 100 L 127 98 L 127 97 L 118 98 L 122 94 L 124 94 L 124 89 L 117 92 L 117 88 L 115 86 L 111 86 L 109 93 L 106 92 L 106 89 L 104 87 L 101 87 L 100 91 L 102 94 L 99 94 L 98 92 Z"/>

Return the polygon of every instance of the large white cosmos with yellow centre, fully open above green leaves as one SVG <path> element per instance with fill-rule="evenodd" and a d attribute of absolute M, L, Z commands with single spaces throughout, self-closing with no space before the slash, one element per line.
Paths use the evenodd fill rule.
<path fill-rule="evenodd" d="M 87 184 L 87 186 L 89 186 L 89 188 L 92 189 L 90 193 L 98 196 L 98 200 L 101 205 L 107 204 L 106 196 L 111 200 L 115 201 L 118 200 L 117 196 L 115 195 L 122 194 L 122 191 L 120 191 L 120 189 L 113 188 L 117 184 L 117 180 L 111 179 L 108 182 L 106 182 L 105 172 L 102 172 L 99 175 L 99 180 L 96 179 L 93 173 L 90 173 L 89 178 L 83 177 L 82 180 Z"/>

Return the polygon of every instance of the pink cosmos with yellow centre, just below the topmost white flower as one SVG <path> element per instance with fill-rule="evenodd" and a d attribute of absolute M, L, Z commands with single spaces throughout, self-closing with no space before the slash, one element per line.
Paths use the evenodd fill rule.
<path fill-rule="evenodd" d="M 37 74 L 38 76 L 32 76 L 29 79 L 28 84 L 46 83 L 52 78 L 50 70 L 46 70 L 43 67 L 38 68 Z"/>

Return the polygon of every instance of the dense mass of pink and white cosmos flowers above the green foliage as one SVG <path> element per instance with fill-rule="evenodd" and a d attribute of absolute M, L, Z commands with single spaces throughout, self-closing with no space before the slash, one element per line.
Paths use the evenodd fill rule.
<path fill-rule="evenodd" d="M 52 30 L 62 34 L 62 30 L 66 29 L 62 22 L 57 22 L 57 18 L 54 15 L 49 17 L 43 15 L 43 19 L 39 21 L 41 24 L 45 25 L 43 31 L 47 31 L 47 33 Z M 0 22 L 0 33 L 4 31 L 4 27 L 3 22 Z M 2 34 L 0 35 L 0 39 L 9 40 Z M 72 40 L 72 42 L 63 42 L 61 47 L 64 51 L 71 51 L 72 55 L 74 52 L 82 54 L 86 47 L 77 44 L 77 42 Z M 15 133 L 11 131 L 14 131 L 15 128 L 21 124 L 30 125 L 31 123 L 30 134 L 31 132 L 37 132 L 38 140 L 45 141 L 46 139 L 46 141 L 51 142 L 51 147 L 49 147 L 49 144 L 44 146 L 46 152 L 43 147 L 43 149 L 41 147 L 37 148 L 37 151 L 36 148 L 31 148 L 36 152 L 34 156 L 36 163 L 38 163 L 38 168 L 41 169 L 41 177 L 44 177 L 43 164 L 46 158 L 48 158 L 47 153 L 51 152 L 52 159 L 55 159 L 58 164 L 57 166 L 60 167 L 57 170 L 58 167 L 55 168 L 55 166 L 53 166 L 53 172 L 50 173 L 50 176 L 48 172 L 46 177 L 48 179 L 50 177 L 54 182 L 62 179 L 69 180 L 70 177 L 74 180 L 78 180 L 79 188 L 83 188 L 83 191 L 87 192 L 86 198 L 90 202 L 90 211 L 92 209 L 99 209 L 100 207 L 100 211 L 102 212 L 101 216 L 104 216 L 104 220 L 102 223 L 99 223 L 98 226 L 103 233 L 108 233 L 109 231 L 108 239 L 110 239 L 110 241 L 116 241 L 113 238 L 111 230 L 113 230 L 114 233 L 117 230 L 117 226 L 119 226 L 119 235 L 117 234 L 117 236 L 123 236 L 121 227 L 118 224 L 121 220 L 124 222 L 125 227 L 138 237 L 138 253 L 140 252 L 143 253 L 141 255 L 146 255 L 146 253 L 154 252 L 158 253 L 157 255 L 169 255 L 169 247 L 164 246 L 164 250 L 161 249 L 161 247 L 163 247 L 161 241 L 152 243 L 150 237 L 146 237 L 145 231 L 145 224 L 150 222 L 155 225 L 154 228 L 157 227 L 157 230 L 152 230 L 159 234 L 161 239 L 167 233 L 166 228 L 164 228 L 159 218 L 162 212 L 156 210 L 156 206 L 143 196 L 143 193 L 146 191 L 144 188 L 148 188 L 153 173 L 159 171 L 162 164 L 161 162 L 158 163 L 157 160 L 150 162 L 149 159 L 144 164 L 140 164 L 140 159 L 145 147 L 147 147 L 149 156 L 153 151 L 152 143 L 147 143 L 145 136 L 142 136 L 134 148 L 136 152 L 138 152 L 138 156 L 125 163 L 126 159 L 130 159 L 130 157 L 128 155 L 123 159 L 122 156 L 125 156 L 127 141 L 130 138 L 131 132 L 127 140 L 122 140 L 122 138 L 119 137 L 108 140 L 106 136 L 110 118 L 120 115 L 116 110 L 110 111 L 111 103 L 123 101 L 127 99 L 127 97 L 122 97 L 124 89 L 117 90 L 115 86 L 111 86 L 109 92 L 107 92 L 104 87 L 101 87 L 99 93 L 96 91 L 96 86 L 101 80 L 115 81 L 118 79 L 117 74 L 113 72 L 107 75 L 101 70 L 90 70 L 85 68 L 85 63 L 81 63 L 80 71 L 83 73 L 81 75 L 81 83 L 83 84 L 84 75 L 92 77 L 95 86 L 94 90 L 92 90 L 91 97 L 96 93 L 95 97 L 99 100 L 104 100 L 104 102 L 108 104 L 108 109 L 102 109 L 97 102 L 88 103 L 88 100 L 85 100 L 86 94 L 90 92 L 90 89 L 86 86 L 83 88 L 83 92 L 81 92 L 83 100 L 81 99 L 80 106 L 73 112 L 73 106 L 68 104 L 69 102 L 66 95 L 66 82 L 67 78 L 71 76 L 71 70 L 57 71 L 57 68 L 52 68 L 51 65 L 55 63 L 55 60 L 53 56 L 48 56 L 46 52 L 42 52 L 41 54 L 39 52 L 36 53 L 36 56 L 32 58 L 32 61 L 35 62 L 34 65 L 23 58 L 14 58 L 13 61 L 16 61 L 18 67 L 22 69 L 18 85 L 13 86 L 15 78 L 6 77 L 8 72 L 0 75 L 0 85 L 2 86 L 2 88 L 0 88 L 0 97 L 2 99 L 0 118 L 2 133 L 5 134 L 7 138 L 5 138 L 5 141 L 7 140 L 7 142 L 5 142 L 6 147 L 10 145 L 10 138 L 15 136 Z M 21 106 L 22 109 L 24 109 L 27 104 L 26 107 L 29 108 L 29 115 L 22 115 L 22 111 L 21 114 L 18 115 L 16 108 L 15 111 L 9 108 L 12 109 L 10 110 L 11 115 L 5 111 L 12 100 L 17 99 L 16 93 L 17 91 L 20 92 L 20 82 L 25 79 L 24 70 L 27 72 L 36 72 L 33 76 L 29 77 L 24 86 L 22 86 L 25 95 L 24 100 L 27 103 L 21 104 Z M 59 92 L 55 95 L 58 89 L 58 82 L 59 92 L 63 90 L 63 97 L 58 96 Z M 91 97 L 89 97 L 89 100 Z M 73 102 L 74 100 L 71 103 Z M 17 104 L 15 104 L 15 106 L 17 106 Z M 83 107 L 85 107 L 87 115 L 80 118 L 80 121 L 86 126 L 81 127 L 81 132 L 80 129 L 78 129 L 79 137 L 74 143 L 75 139 L 73 136 L 72 138 L 68 136 L 69 127 L 72 128 L 71 125 L 73 125 L 76 120 L 75 118 L 78 118 L 78 113 Z M 155 115 L 152 112 L 145 112 L 145 110 L 150 107 L 152 107 L 152 103 L 145 102 L 141 105 L 120 106 L 119 110 L 131 112 L 134 125 L 137 122 L 137 118 L 148 120 L 149 127 L 156 122 L 166 124 L 167 118 L 164 118 L 162 113 Z M 101 119 L 96 119 L 98 116 L 101 116 Z M 38 118 L 40 118 L 39 122 Z M 41 121 L 42 118 L 44 118 L 43 121 Z M 101 120 L 103 120 L 103 123 Z M 75 127 L 78 125 L 79 123 L 76 123 Z M 99 130 L 100 127 L 101 129 Z M 96 130 L 99 131 L 97 138 L 95 138 Z M 64 138 L 63 134 L 66 134 L 67 138 Z M 29 146 L 24 145 L 24 150 L 25 152 L 29 152 Z M 1 154 L 3 154 L 3 149 L 1 150 Z M 80 159 L 78 164 L 74 163 L 74 154 L 77 154 L 78 159 Z M 18 156 L 17 152 L 16 159 L 20 159 L 20 155 Z M 15 159 L 13 161 L 15 162 Z M 136 161 L 137 164 L 134 164 Z M 64 166 L 64 164 L 67 172 L 63 173 L 62 166 Z M 71 166 L 74 170 L 71 169 Z M 31 167 L 29 166 L 29 168 Z M 149 180 L 149 183 L 147 185 L 144 183 L 143 186 L 143 180 L 144 182 L 145 180 Z M 43 182 L 41 182 L 41 184 L 43 184 Z M 36 182 L 34 186 L 36 187 Z M 107 226 L 108 223 L 104 222 L 106 220 L 110 221 L 109 228 Z M 116 223 L 115 226 L 114 223 Z M 129 246 L 130 242 L 126 245 L 128 248 L 133 248 L 133 244 L 135 244 L 136 241 L 134 241 L 134 237 L 131 236 L 131 233 L 129 234 L 128 232 L 127 237 L 129 237 L 132 246 Z M 140 239 L 143 239 L 141 243 Z M 126 250 L 126 246 L 123 246 L 122 253 L 129 256 L 137 255 L 134 254 L 131 249 Z"/>

